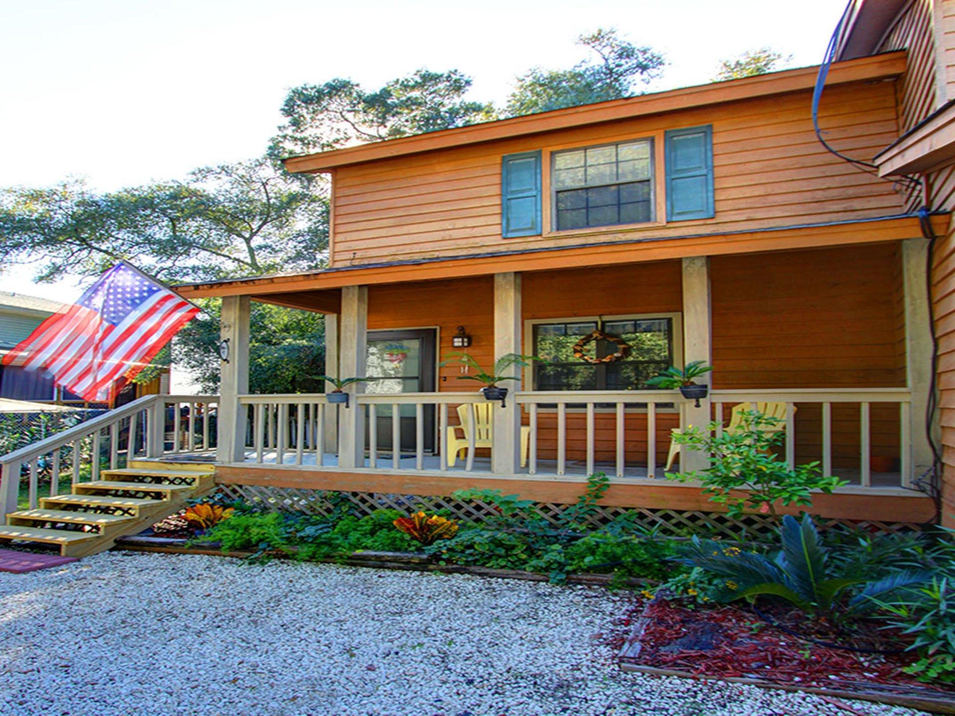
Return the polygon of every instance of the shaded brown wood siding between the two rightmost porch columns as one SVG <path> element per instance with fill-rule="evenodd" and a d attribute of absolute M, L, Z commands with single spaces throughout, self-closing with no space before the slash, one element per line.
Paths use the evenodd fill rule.
<path fill-rule="evenodd" d="M 901 265 L 897 243 L 711 258 L 713 387 L 904 387 Z M 821 407 L 796 408 L 796 460 L 819 460 Z M 898 458 L 898 406 L 871 411 L 872 454 Z M 859 406 L 832 419 L 834 466 L 858 469 Z"/>

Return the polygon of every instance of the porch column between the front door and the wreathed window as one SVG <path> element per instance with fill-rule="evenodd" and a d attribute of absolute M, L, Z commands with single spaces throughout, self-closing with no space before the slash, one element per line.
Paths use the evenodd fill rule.
<path fill-rule="evenodd" d="M 494 356 L 520 353 L 520 273 L 494 275 Z M 491 451 L 491 470 L 497 474 L 517 474 L 520 467 L 520 406 L 514 393 L 520 390 L 520 369 L 511 375 L 519 380 L 507 381 L 507 407 L 494 409 L 494 448 Z"/>

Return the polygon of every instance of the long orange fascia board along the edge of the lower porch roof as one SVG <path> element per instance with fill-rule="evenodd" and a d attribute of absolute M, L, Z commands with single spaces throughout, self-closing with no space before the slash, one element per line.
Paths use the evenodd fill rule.
<path fill-rule="evenodd" d="M 945 212 L 932 215 L 932 226 L 936 232 L 944 233 L 947 217 Z M 488 252 L 467 257 L 336 266 L 305 273 L 180 284 L 175 289 L 187 299 L 249 296 L 253 301 L 337 313 L 341 301 L 340 289 L 350 285 L 436 281 L 506 271 L 642 263 L 694 256 L 890 242 L 921 236 L 917 214 L 896 214 L 875 219 L 778 226 L 752 231 L 713 232 L 675 238 L 642 237 L 524 251 Z"/>

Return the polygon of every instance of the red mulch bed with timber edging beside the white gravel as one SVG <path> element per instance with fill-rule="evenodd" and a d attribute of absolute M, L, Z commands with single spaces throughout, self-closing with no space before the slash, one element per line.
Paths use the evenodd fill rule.
<path fill-rule="evenodd" d="M 807 691 L 955 714 L 955 687 L 902 673 L 908 653 L 868 653 L 799 638 L 739 606 L 690 609 L 660 597 L 637 613 L 625 671 Z M 851 646 L 852 644 L 847 644 Z"/>

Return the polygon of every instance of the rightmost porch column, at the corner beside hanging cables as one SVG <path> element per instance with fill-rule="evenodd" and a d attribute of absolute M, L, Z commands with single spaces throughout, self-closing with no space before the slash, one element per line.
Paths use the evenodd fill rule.
<path fill-rule="evenodd" d="M 908 411 L 908 434 L 911 436 L 909 476 L 922 474 L 932 465 L 933 455 L 925 435 L 925 411 L 932 379 L 932 335 L 928 326 L 928 291 L 925 288 L 927 239 L 906 239 L 902 242 L 902 281 L 905 291 L 905 385 L 911 390 Z M 905 446 L 902 446 L 905 450 Z M 904 466 L 906 461 L 902 460 Z M 907 482 L 905 483 L 907 484 Z"/>

